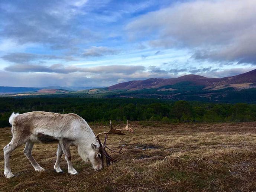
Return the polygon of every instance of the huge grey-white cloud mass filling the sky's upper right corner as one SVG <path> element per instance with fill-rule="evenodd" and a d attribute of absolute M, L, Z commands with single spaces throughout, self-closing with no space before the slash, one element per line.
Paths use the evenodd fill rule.
<path fill-rule="evenodd" d="M 152 47 L 189 48 L 193 58 L 256 64 L 256 1 L 176 3 L 126 25 L 130 39 Z M 154 39 L 152 39 L 154 38 Z"/>

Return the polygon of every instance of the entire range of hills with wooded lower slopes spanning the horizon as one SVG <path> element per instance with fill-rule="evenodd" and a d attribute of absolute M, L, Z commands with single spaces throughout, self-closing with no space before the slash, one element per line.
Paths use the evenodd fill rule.
<path fill-rule="evenodd" d="M 0 87 L 0 90 L 1 88 L 9 92 L 23 91 L 22 94 L 1 97 L 158 98 L 173 101 L 256 104 L 256 70 L 224 78 L 207 78 L 200 75 L 185 75 L 169 79 L 150 78 L 79 91 L 72 91 L 68 87 Z"/>

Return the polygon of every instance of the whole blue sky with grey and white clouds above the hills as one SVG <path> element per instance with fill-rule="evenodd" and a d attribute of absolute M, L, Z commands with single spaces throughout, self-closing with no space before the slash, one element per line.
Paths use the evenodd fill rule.
<path fill-rule="evenodd" d="M 256 69 L 256 0 L 1 0 L 0 86 Z"/>

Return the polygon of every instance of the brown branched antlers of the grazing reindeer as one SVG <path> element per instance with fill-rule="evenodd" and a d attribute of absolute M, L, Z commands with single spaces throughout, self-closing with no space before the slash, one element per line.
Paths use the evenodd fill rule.
<path fill-rule="evenodd" d="M 113 150 L 113 149 L 110 149 L 107 145 L 106 145 L 106 142 L 107 142 L 107 138 L 108 138 L 108 134 L 117 134 L 117 135 L 125 135 L 122 131 L 130 131 L 131 133 L 134 133 L 134 130 L 132 128 L 134 128 L 135 126 L 133 126 L 132 128 L 129 128 L 129 124 L 128 124 L 128 121 L 127 121 L 127 125 L 126 127 L 124 128 L 120 128 L 120 129 L 117 129 L 118 126 L 116 126 L 116 128 L 113 128 L 112 126 L 112 122 L 110 121 L 110 130 L 109 131 L 105 131 L 104 132 L 101 132 L 101 133 L 98 133 L 97 134 L 97 139 L 101 145 L 101 150 L 103 152 L 103 154 L 106 156 L 106 163 L 107 163 L 107 166 L 109 166 L 111 164 L 111 162 L 116 162 L 106 151 L 106 148 L 110 151 L 113 151 L 113 152 L 116 152 L 116 153 L 122 153 L 121 150 L 123 149 L 123 147 L 121 147 L 121 149 L 119 151 L 116 151 L 116 150 Z M 105 140 L 104 140 L 104 144 L 101 143 L 100 141 L 100 135 L 103 135 L 105 134 Z"/>

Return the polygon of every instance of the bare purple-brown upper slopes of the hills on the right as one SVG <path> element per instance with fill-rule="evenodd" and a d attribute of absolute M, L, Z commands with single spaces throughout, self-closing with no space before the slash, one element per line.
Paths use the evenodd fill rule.
<path fill-rule="evenodd" d="M 149 89 L 149 88 L 159 88 L 166 85 L 175 85 L 180 82 L 190 82 L 191 85 L 202 85 L 205 87 L 229 87 L 227 85 L 233 84 L 251 84 L 256 83 L 256 69 L 253 71 L 246 72 L 244 74 L 235 75 L 232 77 L 224 77 L 224 78 L 208 78 L 200 75 L 185 75 L 178 78 L 150 78 L 146 80 L 140 81 L 129 81 L 123 82 L 116 85 L 112 85 L 108 87 L 109 91 L 113 90 L 141 90 L 141 89 Z M 242 86 L 242 85 L 240 85 Z M 232 87 L 232 86 L 230 86 Z"/>

